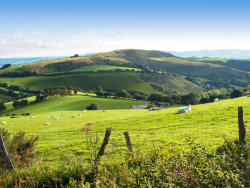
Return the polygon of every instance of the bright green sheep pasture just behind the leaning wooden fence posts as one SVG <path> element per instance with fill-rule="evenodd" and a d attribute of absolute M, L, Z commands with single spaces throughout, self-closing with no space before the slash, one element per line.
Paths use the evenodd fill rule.
<path fill-rule="evenodd" d="M 225 138 L 237 138 L 238 106 L 243 106 L 245 125 L 248 128 L 250 122 L 250 101 L 247 97 L 193 106 L 192 112 L 186 114 L 177 114 L 178 108 L 160 111 L 107 110 L 106 113 L 98 110 L 82 113 L 81 105 L 79 105 L 79 110 L 70 107 L 77 106 L 80 103 L 79 98 L 76 97 L 74 103 L 73 97 L 65 97 L 65 100 L 71 101 L 68 105 L 67 102 L 60 104 L 62 101 L 59 100 L 63 98 L 55 99 L 55 103 L 47 101 L 37 104 L 36 110 L 34 109 L 35 118 L 1 117 L 1 121 L 7 122 L 2 126 L 11 133 L 22 129 L 28 135 L 39 135 L 40 140 L 36 146 L 37 157 L 43 156 L 43 160 L 56 163 L 77 156 L 82 159 L 89 158 L 89 151 L 86 148 L 86 132 L 82 131 L 88 122 L 93 122 L 89 135 L 92 135 L 92 138 L 97 135 L 98 146 L 102 142 L 105 129 L 112 127 L 107 152 L 113 154 L 114 158 L 119 158 L 127 150 L 124 132 L 129 132 L 132 147 L 143 152 L 150 151 L 153 145 L 162 150 L 167 147 L 188 148 L 187 140 L 190 138 L 213 149 L 222 144 Z M 121 101 L 118 100 L 119 103 Z M 124 101 L 128 102 L 128 100 Z M 61 108 L 60 111 L 54 107 L 56 105 Z M 32 106 L 30 106 L 30 111 L 31 109 Z M 25 108 L 23 110 L 25 111 Z M 62 113 L 65 115 L 61 116 Z M 82 116 L 79 116 L 79 113 Z M 54 120 L 52 115 L 59 119 Z M 76 117 L 71 118 L 74 115 Z M 50 123 L 50 125 L 44 125 L 45 123 Z"/>

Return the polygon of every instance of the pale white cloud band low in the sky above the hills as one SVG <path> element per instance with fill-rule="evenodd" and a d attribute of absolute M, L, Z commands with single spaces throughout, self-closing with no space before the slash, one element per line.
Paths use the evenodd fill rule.
<path fill-rule="evenodd" d="M 64 37 L 47 32 L 0 33 L 0 57 L 70 56 L 126 48 L 162 51 L 249 49 L 249 36 L 215 34 L 130 28 L 88 29 Z"/>

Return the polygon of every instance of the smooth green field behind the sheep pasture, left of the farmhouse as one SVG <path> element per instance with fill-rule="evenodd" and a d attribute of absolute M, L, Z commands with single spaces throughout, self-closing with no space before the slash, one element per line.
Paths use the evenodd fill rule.
<path fill-rule="evenodd" d="M 35 97 L 27 98 L 28 101 L 34 101 Z M 132 105 L 148 104 L 148 101 L 136 101 L 130 99 L 116 99 L 116 98 L 100 98 L 96 96 L 67 96 L 58 97 L 45 100 L 44 102 L 29 105 L 23 108 L 14 109 L 12 102 L 6 103 L 7 110 L 5 114 L 31 113 L 33 115 L 56 112 L 56 111 L 81 111 L 89 106 L 91 103 L 99 104 L 100 109 L 119 110 L 129 109 Z"/>

